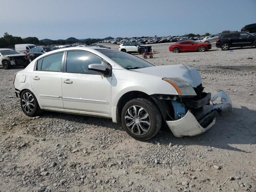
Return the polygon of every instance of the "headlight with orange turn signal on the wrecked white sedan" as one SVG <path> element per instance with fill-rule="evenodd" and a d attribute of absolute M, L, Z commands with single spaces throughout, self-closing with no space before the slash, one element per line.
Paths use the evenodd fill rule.
<path fill-rule="evenodd" d="M 162 80 L 174 86 L 179 95 L 196 95 L 194 88 L 180 78 L 162 78 Z"/>

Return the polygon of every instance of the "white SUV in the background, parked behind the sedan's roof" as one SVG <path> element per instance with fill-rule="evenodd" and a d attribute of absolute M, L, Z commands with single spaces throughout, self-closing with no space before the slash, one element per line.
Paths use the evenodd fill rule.
<path fill-rule="evenodd" d="M 150 52 L 151 46 L 147 46 L 139 42 L 124 42 L 123 44 L 120 44 L 120 46 L 118 47 L 118 50 L 122 52 L 140 54 L 142 54 L 142 52 L 144 52 L 145 49 L 148 52 Z"/>

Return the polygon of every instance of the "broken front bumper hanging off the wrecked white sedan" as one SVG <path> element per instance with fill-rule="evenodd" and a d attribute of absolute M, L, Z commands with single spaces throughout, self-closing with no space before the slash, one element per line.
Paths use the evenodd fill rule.
<path fill-rule="evenodd" d="M 214 101 L 219 97 L 221 98 L 221 102 L 214 104 Z M 174 121 L 166 121 L 174 136 L 195 136 L 206 132 L 216 122 L 216 111 L 232 111 L 232 102 L 224 91 L 220 91 L 214 95 L 211 101 L 213 104 L 212 110 L 204 114 L 199 120 L 188 110 L 184 117 Z"/>

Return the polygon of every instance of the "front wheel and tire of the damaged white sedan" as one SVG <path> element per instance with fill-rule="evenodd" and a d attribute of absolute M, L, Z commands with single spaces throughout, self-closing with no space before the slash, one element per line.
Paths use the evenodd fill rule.
<path fill-rule="evenodd" d="M 122 109 L 122 126 L 136 140 L 154 137 L 162 125 L 160 110 L 152 101 L 136 98 L 128 101 Z"/>

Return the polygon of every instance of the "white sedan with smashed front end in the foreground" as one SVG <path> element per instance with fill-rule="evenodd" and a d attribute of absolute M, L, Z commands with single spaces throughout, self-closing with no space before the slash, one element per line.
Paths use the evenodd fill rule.
<path fill-rule="evenodd" d="M 205 132 L 216 110 L 232 110 L 230 98 L 203 92 L 201 76 L 185 65 L 154 66 L 105 48 L 54 50 L 33 60 L 14 78 L 27 116 L 42 110 L 111 118 L 137 140 L 155 136 L 162 124 L 177 137 Z M 217 97 L 222 103 L 206 110 Z"/>

